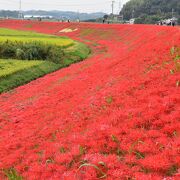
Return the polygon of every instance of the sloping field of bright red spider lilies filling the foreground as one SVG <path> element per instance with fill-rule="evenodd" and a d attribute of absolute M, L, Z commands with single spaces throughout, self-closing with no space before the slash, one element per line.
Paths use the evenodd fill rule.
<path fill-rule="evenodd" d="M 180 28 L 1 20 L 92 54 L 0 95 L 0 179 L 180 178 Z M 66 30 L 70 31 L 66 31 Z"/>

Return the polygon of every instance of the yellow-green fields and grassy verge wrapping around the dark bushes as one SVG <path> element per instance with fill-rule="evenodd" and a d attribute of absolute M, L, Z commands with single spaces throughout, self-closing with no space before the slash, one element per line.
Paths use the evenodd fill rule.
<path fill-rule="evenodd" d="M 54 72 L 72 63 L 88 57 L 89 48 L 67 37 L 57 37 L 35 32 L 16 31 L 0 28 L 1 41 L 40 41 L 61 46 L 64 50 L 63 61 L 60 64 L 43 60 L 0 59 L 0 93 L 7 92 L 20 85 Z"/>

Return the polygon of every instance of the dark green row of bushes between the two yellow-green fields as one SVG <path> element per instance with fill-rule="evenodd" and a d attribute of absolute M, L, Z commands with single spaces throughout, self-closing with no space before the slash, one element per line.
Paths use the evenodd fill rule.
<path fill-rule="evenodd" d="M 64 51 L 60 46 L 44 44 L 41 42 L 5 41 L 0 43 L 0 58 L 19 60 L 48 60 L 61 63 Z"/>

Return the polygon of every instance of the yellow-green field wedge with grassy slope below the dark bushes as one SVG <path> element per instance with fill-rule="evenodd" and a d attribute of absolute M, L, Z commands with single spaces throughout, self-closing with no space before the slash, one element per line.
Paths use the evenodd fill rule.
<path fill-rule="evenodd" d="M 26 84 L 62 67 L 60 64 L 48 61 L 0 60 L 0 67 L 2 66 L 4 70 L 0 73 L 0 93 Z"/>

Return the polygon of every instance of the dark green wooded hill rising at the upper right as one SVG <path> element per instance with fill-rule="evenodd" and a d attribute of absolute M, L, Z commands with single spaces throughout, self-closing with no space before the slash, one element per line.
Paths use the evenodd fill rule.
<path fill-rule="evenodd" d="M 125 20 L 138 18 L 136 22 L 153 24 L 158 20 L 170 18 L 173 15 L 179 18 L 180 0 L 130 0 L 121 11 Z"/>

